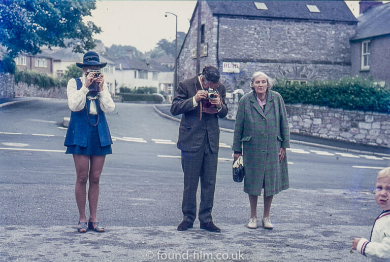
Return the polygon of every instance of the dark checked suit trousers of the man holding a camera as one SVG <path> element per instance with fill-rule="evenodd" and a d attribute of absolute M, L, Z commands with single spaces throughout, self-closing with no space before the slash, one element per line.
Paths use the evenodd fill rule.
<path fill-rule="evenodd" d="M 199 151 L 181 152 L 181 166 L 184 172 L 184 192 L 181 209 L 184 221 L 193 222 L 197 217 L 199 178 L 201 179 L 199 221 L 206 223 L 213 220 L 211 210 L 214 204 L 217 164 L 218 153 L 213 154 L 211 152 L 207 135 Z"/>

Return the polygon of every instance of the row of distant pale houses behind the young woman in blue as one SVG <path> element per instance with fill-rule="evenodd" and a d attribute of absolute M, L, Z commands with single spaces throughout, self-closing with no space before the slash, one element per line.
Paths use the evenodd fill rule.
<path fill-rule="evenodd" d="M 144 62 L 139 59 L 123 56 L 115 60 L 107 58 L 105 47 L 99 43 L 94 49 L 100 55 L 101 62 L 107 62 L 102 68 L 105 82 L 111 94 L 119 93 L 120 87 L 137 89 L 139 87 L 155 87 L 157 92 L 168 98 L 173 92 L 173 72 L 165 65 L 157 62 Z M 42 48 L 37 55 L 21 54 L 15 59 L 18 70 L 34 70 L 60 77 L 69 65 L 83 60 L 83 54 L 72 52 L 71 48 L 49 50 Z"/>

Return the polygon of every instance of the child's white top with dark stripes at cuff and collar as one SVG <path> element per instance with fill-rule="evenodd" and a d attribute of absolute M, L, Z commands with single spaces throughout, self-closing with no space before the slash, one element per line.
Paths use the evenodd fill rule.
<path fill-rule="evenodd" d="M 372 261 L 390 261 L 390 210 L 380 213 L 372 227 L 370 240 L 362 238 L 356 250 Z"/>

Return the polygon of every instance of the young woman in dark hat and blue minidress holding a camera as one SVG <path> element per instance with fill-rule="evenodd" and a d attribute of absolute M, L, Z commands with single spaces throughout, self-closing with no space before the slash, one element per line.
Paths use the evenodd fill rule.
<path fill-rule="evenodd" d="M 77 231 L 88 229 L 104 232 L 96 218 L 99 199 L 99 180 L 106 155 L 112 154 L 111 135 L 105 113 L 114 110 L 115 104 L 108 91 L 100 69 L 107 63 L 100 63 L 99 55 L 87 52 L 83 63 L 76 63 L 83 69 L 83 76 L 71 79 L 67 86 L 68 105 L 72 110 L 71 120 L 64 145 L 66 154 L 73 154 L 76 167 L 75 195 L 79 209 Z M 88 224 L 85 216 L 86 184 L 89 179 Z"/>

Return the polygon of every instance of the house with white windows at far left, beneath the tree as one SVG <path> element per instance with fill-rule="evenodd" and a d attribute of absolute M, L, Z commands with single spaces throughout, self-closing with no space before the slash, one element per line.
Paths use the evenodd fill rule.
<path fill-rule="evenodd" d="M 15 65 L 19 71 L 33 70 L 50 75 L 53 73 L 53 57 L 44 51 L 36 55 L 19 54 L 15 58 Z"/>

